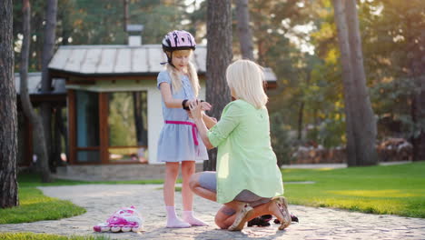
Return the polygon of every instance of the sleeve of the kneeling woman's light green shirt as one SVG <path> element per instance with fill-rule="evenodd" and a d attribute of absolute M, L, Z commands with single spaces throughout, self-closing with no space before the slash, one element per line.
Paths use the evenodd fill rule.
<path fill-rule="evenodd" d="M 243 117 L 243 110 L 240 105 L 234 104 L 233 102 L 222 111 L 222 117 L 220 121 L 214 125 L 207 133 L 210 143 L 217 147 L 226 140 L 232 131 L 241 123 Z"/>

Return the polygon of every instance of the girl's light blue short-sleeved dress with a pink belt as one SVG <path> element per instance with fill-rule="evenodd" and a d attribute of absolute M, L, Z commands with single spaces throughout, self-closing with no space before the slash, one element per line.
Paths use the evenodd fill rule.
<path fill-rule="evenodd" d="M 174 99 L 194 99 L 193 88 L 189 77 L 182 76 L 182 87 L 179 91 L 173 91 L 171 77 L 166 70 L 159 73 L 157 78 L 157 87 L 160 89 L 162 83 L 168 83 L 172 88 Z M 163 102 L 163 101 L 162 101 Z M 193 119 L 189 118 L 186 110 L 183 108 L 168 108 L 163 104 L 163 130 L 158 140 L 159 162 L 182 162 L 182 161 L 198 161 L 208 160 L 208 154 L 203 140 L 197 129 L 195 129 L 196 140 L 195 145 L 193 136 Z M 193 125 L 177 125 L 165 124 L 165 121 L 190 122 Z"/>

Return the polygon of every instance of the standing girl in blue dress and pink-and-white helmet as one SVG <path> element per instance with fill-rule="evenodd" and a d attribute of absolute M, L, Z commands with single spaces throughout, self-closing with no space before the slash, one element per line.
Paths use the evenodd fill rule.
<path fill-rule="evenodd" d="M 164 63 L 166 69 L 157 78 L 158 88 L 163 96 L 165 122 L 158 141 L 158 161 L 165 162 L 163 200 L 167 212 L 167 227 L 207 225 L 193 216 L 193 192 L 189 188 L 195 161 L 208 160 L 205 145 L 186 111 L 200 89 L 196 70 L 189 62 L 195 47 L 193 35 L 185 31 L 173 31 L 163 38 L 163 52 L 168 61 Z M 203 110 L 211 108 L 206 102 L 202 106 Z M 179 163 L 182 163 L 183 175 L 183 221 L 177 217 L 174 209 L 174 186 Z"/>

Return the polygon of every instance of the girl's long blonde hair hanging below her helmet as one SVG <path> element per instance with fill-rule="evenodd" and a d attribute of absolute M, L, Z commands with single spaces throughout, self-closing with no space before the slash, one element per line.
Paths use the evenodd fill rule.
<path fill-rule="evenodd" d="M 173 56 L 187 55 L 188 53 L 189 55 L 192 55 L 193 50 L 176 50 L 176 51 L 173 51 Z M 166 52 L 166 54 L 171 55 L 170 52 Z M 172 79 L 173 91 L 179 91 L 180 88 L 182 87 L 182 79 L 180 77 L 181 74 L 175 67 L 173 67 L 173 65 L 166 64 L 165 67 L 167 71 L 170 73 L 170 76 Z M 196 68 L 191 62 L 189 62 L 187 65 L 187 74 L 189 75 L 189 80 L 191 81 L 191 84 L 192 84 L 193 94 L 195 95 L 195 97 L 198 97 L 199 89 L 201 89 L 201 85 L 199 85 L 199 79 L 198 79 L 198 74 L 196 72 Z"/>

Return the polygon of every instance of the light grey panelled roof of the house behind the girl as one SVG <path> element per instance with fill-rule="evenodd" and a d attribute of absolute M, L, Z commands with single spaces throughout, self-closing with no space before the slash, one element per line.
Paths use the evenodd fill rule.
<path fill-rule="evenodd" d="M 199 74 L 206 72 L 206 45 L 197 45 L 192 62 Z M 74 75 L 157 75 L 166 62 L 162 45 L 61 45 L 49 64 L 50 70 Z M 275 83 L 271 68 L 265 79 Z"/>

